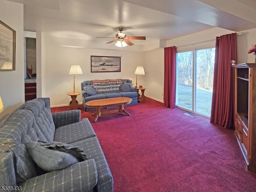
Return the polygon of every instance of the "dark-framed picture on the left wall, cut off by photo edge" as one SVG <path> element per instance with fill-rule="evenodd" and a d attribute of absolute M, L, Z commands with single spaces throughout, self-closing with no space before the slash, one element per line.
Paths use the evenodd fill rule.
<path fill-rule="evenodd" d="M 0 20 L 0 70 L 15 70 L 16 31 Z"/>

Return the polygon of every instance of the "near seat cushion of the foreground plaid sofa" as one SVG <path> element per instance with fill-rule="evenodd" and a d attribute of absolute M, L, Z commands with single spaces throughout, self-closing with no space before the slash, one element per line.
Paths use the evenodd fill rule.
<path fill-rule="evenodd" d="M 72 143 L 72 146 L 83 150 L 88 159 L 95 160 L 98 172 L 97 191 L 113 191 L 113 177 L 98 138 L 92 137 L 78 141 Z"/>

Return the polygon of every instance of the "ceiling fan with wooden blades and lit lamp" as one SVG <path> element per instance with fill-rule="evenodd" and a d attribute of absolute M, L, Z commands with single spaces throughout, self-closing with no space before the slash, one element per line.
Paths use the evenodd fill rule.
<path fill-rule="evenodd" d="M 118 28 L 119 33 L 116 34 L 116 37 L 96 37 L 96 38 L 113 38 L 113 40 L 111 40 L 110 42 L 107 42 L 107 43 L 116 42 L 116 46 L 118 46 L 118 47 L 134 45 L 134 43 L 129 41 L 130 39 L 146 40 L 146 37 L 144 37 L 144 36 L 128 36 L 128 37 L 126 37 L 126 34 L 122 33 L 123 30 L 124 30 L 124 28 L 119 27 Z"/>

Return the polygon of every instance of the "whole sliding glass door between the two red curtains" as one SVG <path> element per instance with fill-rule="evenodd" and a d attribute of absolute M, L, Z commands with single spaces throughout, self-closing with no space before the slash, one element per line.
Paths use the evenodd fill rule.
<path fill-rule="evenodd" d="M 176 106 L 210 116 L 215 48 L 177 53 Z"/>

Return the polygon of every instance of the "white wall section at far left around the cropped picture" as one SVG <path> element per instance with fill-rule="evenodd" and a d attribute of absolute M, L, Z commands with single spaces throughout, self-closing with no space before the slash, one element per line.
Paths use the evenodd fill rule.
<path fill-rule="evenodd" d="M 23 4 L 0 0 L 0 20 L 16 31 L 14 71 L 0 71 L 0 95 L 4 104 L 2 119 L 24 103 Z"/>

